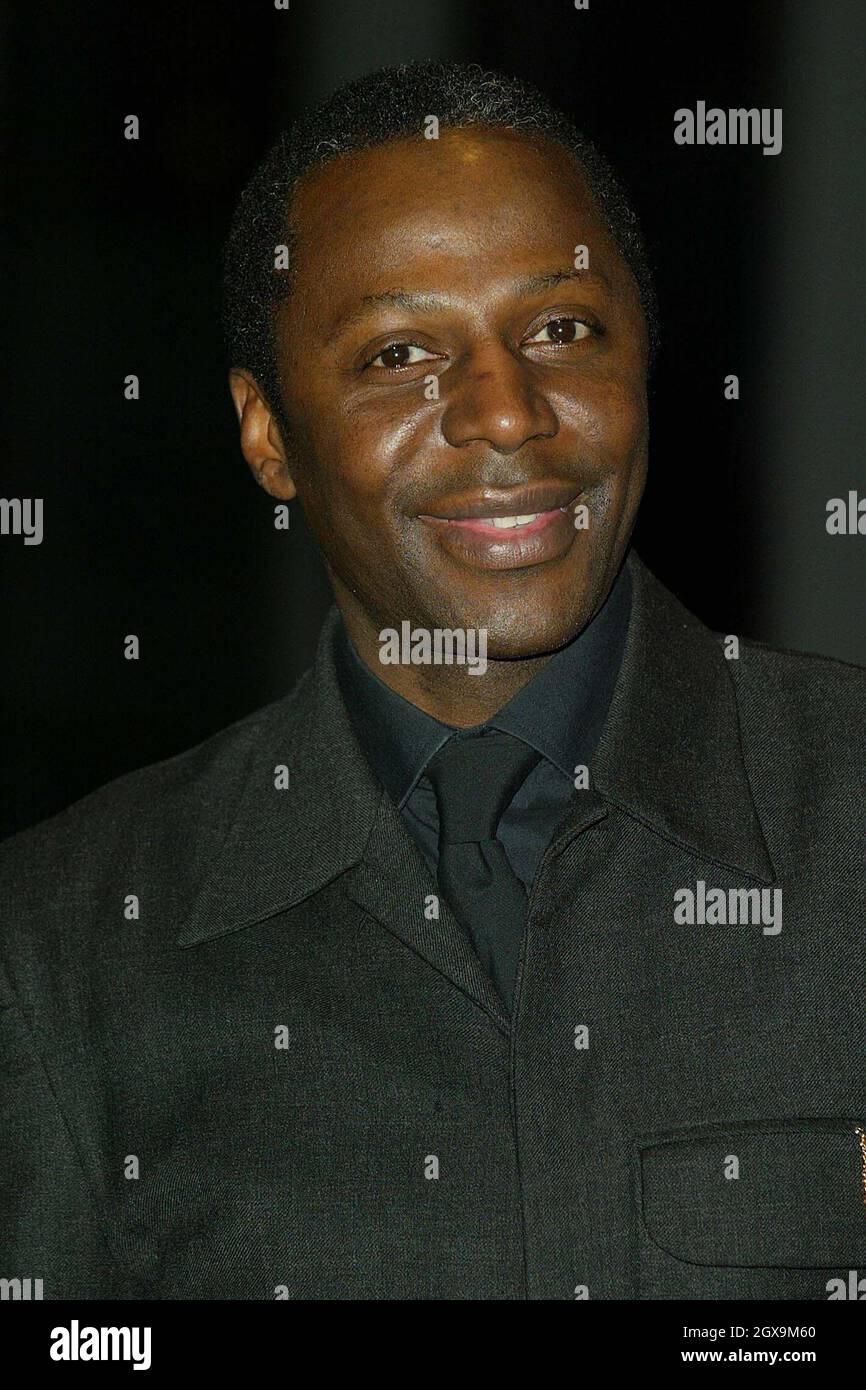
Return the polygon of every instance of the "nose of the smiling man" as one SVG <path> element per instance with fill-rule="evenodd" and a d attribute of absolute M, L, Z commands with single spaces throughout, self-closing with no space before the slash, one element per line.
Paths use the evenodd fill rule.
<path fill-rule="evenodd" d="M 449 382 L 442 434 L 456 449 L 481 441 L 498 453 L 514 453 L 530 439 L 553 438 L 557 430 L 556 411 L 532 364 L 505 345 L 474 353 Z"/>

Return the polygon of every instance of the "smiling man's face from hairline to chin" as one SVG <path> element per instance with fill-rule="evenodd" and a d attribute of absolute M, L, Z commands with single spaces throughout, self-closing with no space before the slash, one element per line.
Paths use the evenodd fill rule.
<path fill-rule="evenodd" d="M 491 660 L 557 649 L 605 599 L 646 471 L 645 321 L 581 171 L 443 131 L 317 170 L 292 225 L 289 473 L 356 644 L 409 619 L 487 628 Z"/>

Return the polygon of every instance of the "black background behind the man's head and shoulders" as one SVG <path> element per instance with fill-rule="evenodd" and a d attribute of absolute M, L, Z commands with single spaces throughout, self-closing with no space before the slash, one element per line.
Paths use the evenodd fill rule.
<path fill-rule="evenodd" d="M 199 742 L 309 663 L 327 584 L 300 513 L 274 531 L 238 448 L 220 249 L 279 125 L 386 63 L 514 72 L 602 143 L 641 210 L 663 316 L 638 549 L 714 628 L 866 662 L 863 539 L 824 530 L 826 500 L 862 477 L 863 11 L 6 10 L 0 491 L 42 496 L 46 534 L 0 537 L 0 833 Z M 781 154 L 674 145 L 674 110 L 698 100 L 783 107 Z"/>

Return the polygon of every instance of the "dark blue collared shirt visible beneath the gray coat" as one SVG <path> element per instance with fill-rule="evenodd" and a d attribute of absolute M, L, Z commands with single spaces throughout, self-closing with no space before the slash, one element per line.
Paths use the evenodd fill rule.
<path fill-rule="evenodd" d="M 502 709 L 474 728 L 442 724 L 403 699 L 370 670 L 345 627 L 336 635 L 341 689 L 373 771 L 391 795 L 436 873 L 439 816 L 424 770 L 449 738 L 489 728 L 523 739 L 542 756 L 506 808 L 498 830 L 527 892 L 556 826 L 577 795 L 575 769 L 589 763 L 620 670 L 631 575 L 626 566 L 584 631 L 550 657 Z"/>

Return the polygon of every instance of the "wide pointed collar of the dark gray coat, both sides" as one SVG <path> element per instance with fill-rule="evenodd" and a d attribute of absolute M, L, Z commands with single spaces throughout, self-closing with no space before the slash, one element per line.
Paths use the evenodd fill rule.
<path fill-rule="evenodd" d="M 632 609 L 620 676 L 592 762 L 602 802 L 637 817 L 659 835 L 719 865 L 773 883 L 773 866 L 752 799 L 734 684 L 719 638 L 703 627 L 631 552 Z M 375 781 L 357 742 L 336 680 L 334 637 L 325 620 L 316 662 L 295 691 L 245 720 L 235 756 L 214 758 L 203 774 L 200 803 L 224 803 L 227 766 L 240 783 L 229 828 L 210 856 L 193 910 L 179 931 L 196 945 L 284 912 L 359 866 L 353 883 L 371 887 L 361 866 L 371 840 L 421 859 Z M 225 738 L 227 735 L 218 735 Z M 289 769 L 288 790 L 274 785 Z M 602 812 L 603 813 L 603 812 Z M 577 817 L 581 817 L 577 812 Z M 596 819 L 594 812 L 589 819 Z M 587 817 L 584 817 L 587 820 Z M 388 824 L 385 824 L 388 823 Z M 384 835 L 384 827 L 389 837 Z M 213 834 L 213 831 L 211 831 Z M 416 858 L 417 855 L 417 858 Z M 398 877 L 392 880 L 400 883 Z M 418 878 L 418 884 L 421 878 Z M 353 894 L 354 895 L 354 894 Z M 373 906 L 370 901 L 367 905 Z M 416 908 L 413 906 L 413 920 Z M 391 926 L 400 935 L 407 920 Z M 416 935 L 424 937 L 418 924 Z M 421 941 L 413 942 L 421 954 Z M 468 960 L 457 963 L 466 977 Z M 453 976 L 453 970 L 446 970 Z M 492 1001 L 488 998 L 492 1006 Z"/>

